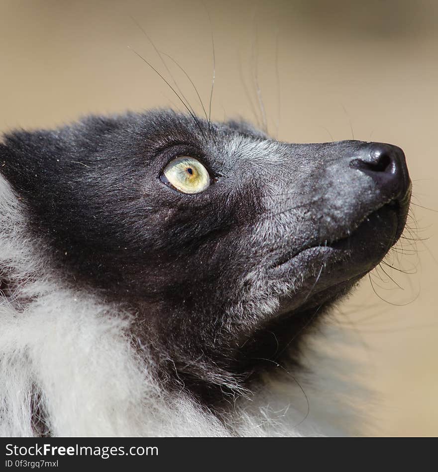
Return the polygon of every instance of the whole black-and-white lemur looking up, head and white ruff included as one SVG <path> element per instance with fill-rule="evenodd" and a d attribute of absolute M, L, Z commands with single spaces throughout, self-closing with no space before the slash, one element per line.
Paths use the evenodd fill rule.
<path fill-rule="evenodd" d="M 1 435 L 351 434 L 309 342 L 410 194 L 395 146 L 173 111 L 5 135 Z"/>

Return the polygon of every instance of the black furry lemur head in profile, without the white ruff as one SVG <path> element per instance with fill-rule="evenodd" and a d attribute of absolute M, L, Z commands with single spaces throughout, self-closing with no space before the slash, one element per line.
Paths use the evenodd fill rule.
<path fill-rule="evenodd" d="M 287 144 L 172 111 L 15 132 L 0 171 L 64 280 L 129 310 L 169 388 L 213 402 L 294 362 L 401 235 L 401 149 Z"/>

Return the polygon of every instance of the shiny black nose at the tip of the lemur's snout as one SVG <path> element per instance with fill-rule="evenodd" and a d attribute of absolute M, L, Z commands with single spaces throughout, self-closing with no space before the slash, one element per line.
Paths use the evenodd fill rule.
<path fill-rule="evenodd" d="M 372 177 L 387 198 L 403 197 L 410 179 L 406 158 L 397 146 L 369 143 L 350 161 L 350 166 Z"/>

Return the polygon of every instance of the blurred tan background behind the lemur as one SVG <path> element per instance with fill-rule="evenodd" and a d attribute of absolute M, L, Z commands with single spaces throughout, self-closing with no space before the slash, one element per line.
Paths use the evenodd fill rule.
<path fill-rule="evenodd" d="M 213 32 L 217 120 L 261 123 L 261 98 L 278 139 L 354 137 L 404 149 L 416 204 L 405 236 L 427 240 L 402 240 L 387 259 L 396 269 L 382 265 L 364 279 L 333 322 L 352 333 L 364 382 L 379 392 L 369 405 L 379 434 L 437 436 L 438 2 L 0 0 L 0 131 L 183 108 L 133 53 L 173 85 L 131 16 L 190 75 L 207 109 Z M 165 59 L 201 113 L 190 82 Z"/>

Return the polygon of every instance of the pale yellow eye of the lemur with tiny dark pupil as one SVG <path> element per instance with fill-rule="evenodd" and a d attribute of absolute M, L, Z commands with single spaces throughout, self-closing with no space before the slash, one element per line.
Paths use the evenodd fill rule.
<path fill-rule="evenodd" d="M 210 186 L 210 175 L 197 159 L 182 156 L 173 159 L 164 169 L 165 179 L 184 193 L 203 192 Z"/>

